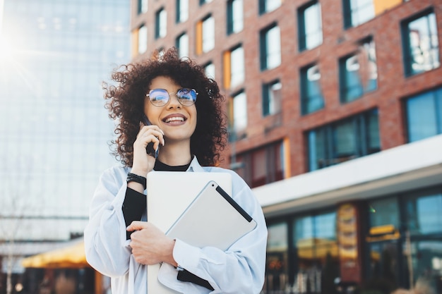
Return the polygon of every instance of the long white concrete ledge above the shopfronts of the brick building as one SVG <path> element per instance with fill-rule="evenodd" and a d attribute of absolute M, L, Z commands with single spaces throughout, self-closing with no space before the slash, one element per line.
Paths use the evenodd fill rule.
<path fill-rule="evenodd" d="M 442 184 L 442 135 L 253 188 L 266 216 Z"/>

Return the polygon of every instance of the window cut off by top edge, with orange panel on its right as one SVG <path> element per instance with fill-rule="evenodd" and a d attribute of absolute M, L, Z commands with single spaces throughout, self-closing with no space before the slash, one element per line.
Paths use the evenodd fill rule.
<path fill-rule="evenodd" d="M 344 0 L 344 27 L 356 27 L 374 18 L 373 0 Z"/>

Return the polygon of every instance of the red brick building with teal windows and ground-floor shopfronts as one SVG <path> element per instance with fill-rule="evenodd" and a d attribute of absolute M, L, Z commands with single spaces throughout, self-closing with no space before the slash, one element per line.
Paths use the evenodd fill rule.
<path fill-rule="evenodd" d="M 264 293 L 441 293 L 441 1 L 131 4 L 133 61 L 175 46 L 227 97 L 221 164 L 263 206 Z"/>

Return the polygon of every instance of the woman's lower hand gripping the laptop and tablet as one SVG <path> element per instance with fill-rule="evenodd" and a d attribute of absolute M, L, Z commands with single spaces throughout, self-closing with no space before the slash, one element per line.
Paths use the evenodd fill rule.
<path fill-rule="evenodd" d="M 134 231 L 129 245 L 136 262 L 148 265 L 167 262 L 177 267 L 172 255 L 175 240 L 167 237 L 159 228 L 146 221 L 133 221 L 127 231 Z"/>

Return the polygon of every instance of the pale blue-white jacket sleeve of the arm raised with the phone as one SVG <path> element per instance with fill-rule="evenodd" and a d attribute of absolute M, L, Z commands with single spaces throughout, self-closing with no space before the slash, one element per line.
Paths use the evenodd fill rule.
<path fill-rule="evenodd" d="M 122 276 L 129 270 L 131 249 L 121 210 L 126 189 L 126 181 L 117 169 L 104 171 L 90 204 L 84 233 L 86 259 L 106 276 Z"/>

